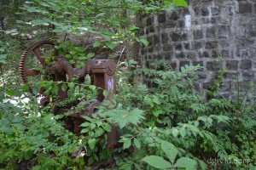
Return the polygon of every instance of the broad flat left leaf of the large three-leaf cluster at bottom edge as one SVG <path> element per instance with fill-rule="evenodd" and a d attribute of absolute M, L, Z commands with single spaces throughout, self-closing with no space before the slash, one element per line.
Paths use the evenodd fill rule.
<path fill-rule="evenodd" d="M 164 158 L 160 156 L 146 156 L 142 161 L 145 161 L 151 167 L 166 169 L 171 168 L 172 164 L 169 161 L 164 160 Z"/>

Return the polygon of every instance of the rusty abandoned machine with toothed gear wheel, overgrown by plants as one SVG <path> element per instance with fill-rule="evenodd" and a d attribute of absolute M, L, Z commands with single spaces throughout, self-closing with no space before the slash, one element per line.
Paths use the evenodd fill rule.
<path fill-rule="evenodd" d="M 79 82 L 84 82 L 84 77 L 89 75 L 91 84 L 100 89 L 95 102 L 86 106 L 84 111 L 70 115 L 65 120 L 66 127 L 76 135 L 80 135 L 80 124 L 84 122 L 83 116 L 91 116 L 96 111 L 96 107 L 105 99 L 102 89 L 108 91 L 108 100 L 113 98 L 113 94 L 116 92 L 116 65 L 111 59 L 88 59 L 83 68 L 75 68 L 64 57 L 47 62 L 47 58 L 45 58 L 47 55 L 59 58 L 55 43 L 49 40 L 33 44 L 22 54 L 20 76 L 23 83 L 29 83 L 29 79 L 38 82 L 49 80 L 49 76 L 55 82 L 72 82 L 73 77 L 79 77 Z M 67 90 L 61 88 L 61 83 L 58 84 L 58 87 L 56 101 L 67 99 Z M 32 92 L 32 85 L 30 85 L 29 91 Z M 40 104 L 48 105 L 49 96 L 44 96 L 44 88 L 40 88 L 39 95 L 41 96 Z M 69 110 L 58 108 L 55 114 L 64 114 L 67 111 Z M 112 126 L 112 131 L 108 133 L 108 147 L 113 148 L 115 144 L 117 144 L 117 128 Z"/>

